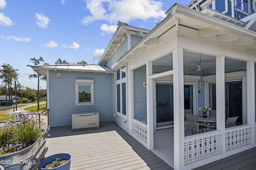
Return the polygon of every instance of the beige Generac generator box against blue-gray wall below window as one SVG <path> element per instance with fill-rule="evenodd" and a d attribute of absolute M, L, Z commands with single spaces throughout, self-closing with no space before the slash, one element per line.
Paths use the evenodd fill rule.
<path fill-rule="evenodd" d="M 97 111 L 72 114 L 71 131 L 81 131 L 100 128 L 100 114 Z"/>

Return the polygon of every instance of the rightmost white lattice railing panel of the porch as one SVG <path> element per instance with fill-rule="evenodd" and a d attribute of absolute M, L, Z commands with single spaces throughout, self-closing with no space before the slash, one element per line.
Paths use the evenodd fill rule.
<path fill-rule="evenodd" d="M 252 144 L 252 126 L 240 125 L 226 130 L 226 152 Z"/>

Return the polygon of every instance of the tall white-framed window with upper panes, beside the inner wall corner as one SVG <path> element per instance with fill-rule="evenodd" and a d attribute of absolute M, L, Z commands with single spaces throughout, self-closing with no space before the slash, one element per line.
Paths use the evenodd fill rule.
<path fill-rule="evenodd" d="M 116 71 L 116 112 L 126 115 L 126 67 Z"/>

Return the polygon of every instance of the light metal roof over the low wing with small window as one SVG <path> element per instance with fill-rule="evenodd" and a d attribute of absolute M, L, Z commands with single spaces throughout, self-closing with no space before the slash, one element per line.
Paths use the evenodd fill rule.
<path fill-rule="evenodd" d="M 34 70 L 44 73 L 44 70 L 69 70 L 86 72 L 114 72 L 110 68 L 96 64 L 60 64 L 60 65 L 29 65 Z"/>

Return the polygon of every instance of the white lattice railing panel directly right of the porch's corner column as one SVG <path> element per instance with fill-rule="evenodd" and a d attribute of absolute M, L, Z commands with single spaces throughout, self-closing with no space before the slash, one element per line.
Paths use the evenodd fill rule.
<path fill-rule="evenodd" d="M 192 135 L 186 137 L 184 144 L 186 166 L 221 154 L 221 133 Z"/>

